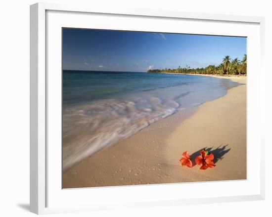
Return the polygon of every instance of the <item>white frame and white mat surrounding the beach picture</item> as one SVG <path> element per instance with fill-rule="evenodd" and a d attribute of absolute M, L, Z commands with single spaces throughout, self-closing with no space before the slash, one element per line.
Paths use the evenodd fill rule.
<path fill-rule="evenodd" d="M 72 15 L 73 14 L 73 15 Z M 110 23 L 102 21 L 104 18 L 114 16 L 116 20 L 122 20 L 123 26 L 115 24 L 113 29 L 132 28 L 131 30 L 161 30 L 171 32 L 170 27 L 166 26 L 154 27 L 150 30 L 149 27 L 137 26 L 136 23 L 142 23 L 143 19 L 147 21 L 152 19 L 155 22 L 191 22 L 200 27 L 199 22 L 207 23 L 207 25 L 218 25 L 218 28 L 210 30 L 209 34 L 213 35 L 231 35 L 228 30 L 220 28 L 221 23 L 225 23 L 229 27 L 232 25 L 240 25 L 241 28 L 233 28 L 233 34 L 251 37 L 250 45 L 248 45 L 248 70 L 258 69 L 257 73 L 248 73 L 247 83 L 247 114 L 248 121 L 248 157 L 247 163 L 251 165 L 254 146 L 257 153 L 256 165 L 248 167 L 248 178 L 242 181 L 226 181 L 226 182 L 198 182 L 198 183 L 179 183 L 179 184 L 163 184 L 163 185 L 145 185 L 145 186 L 125 186 L 125 187 L 106 187 L 92 189 L 67 189 L 59 188 L 59 168 L 61 168 L 61 155 L 59 150 L 52 154 L 52 148 L 48 149 L 48 145 L 52 144 L 55 137 L 50 134 L 52 130 L 52 121 L 50 102 L 59 101 L 61 93 L 58 92 L 60 87 L 59 76 L 54 80 L 47 76 L 48 70 L 58 70 L 61 59 L 59 54 L 60 27 L 80 27 L 87 28 L 90 24 L 84 20 L 99 16 L 101 21 L 96 22 L 95 27 L 101 29 L 110 28 Z M 73 16 L 73 18 L 71 18 Z M 62 19 L 63 18 L 63 19 Z M 65 18 L 65 19 L 64 19 Z M 130 22 L 135 22 L 133 27 L 126 27 Z M 52 22 L 52 20 L 54 22 Z M 65 23 L 63 23 L 65 20 Z M 139 21 L 138 21 L 139 20 Z M 157 20 L 157 21 L 156 21 Z M 151 21 L 150 21 L 151 22 Z M 198 23 L 198 24 L 197 24 Z M 219 25 L 220 24 L 220 25 Z M 68 26 L 67 26 L 68 25 Z M 120 24 L 121 25 L 121 24 Z M 187 25 L 188 26 L 188 25 Z M 245 26 L 245 31 L 243 27 Z M 264 27 L 265 19 L 263 17 L 250 17 L 238 15 L 223 15 L 223 14 L 206 14 L 206 13 L 189 13 L 181 11 L 156 11 L 156 10 L 138 10 L 138 9 L 118 9 L 97 8 L 88 5 L 63 5 L 54 3 L 36 3 L 30 6 L 30 211 L 36 214 L 49 214 L 59 212 L 79 212 L 79 211 L 94 211 L 113 208 L 133 208 L 133 207 L 152 207 L 152 206 L 170 206 L 182 204 L 200 204 L 200 203 L 219 203 L 233 201 L 248 201 L 248 200 L 263 200 L 265 198 L 265 170 L 264 166 L 264 121 L 265 121 L 265 70 L 264 70 Z M 238 26 L 236 26 L 238 27 Z M 143 29 L 145 28 L 145 29 Z M 187 27 L 189 33 L 207 34 L 204 30 L 191 30 Z M 51 31 L 56 30 L 57 31 Z M 201 29 L 201 28 L 199 28 Z M 194 32 L 192 32 L 194 31 Z M 51 34 L 53 32 L 53 34 Z M 188 33 L 188 32 L 187 32 Z M 49 42 L 49 43 L 48 43 Z M 52 49 L 54 51 L 52 56 Z M 256 54 L 253 54 L 256 51 Z M 52 57 L 54 60 L 52 60 Z M 253 58 L 254 57 L 254 58 Z M 251 61 L 256 59 L 256 61 Z M 59 62 L 60 61 L 60 62 Z M 48 63 L 49 62 L 49 63 Z M 256 70 L 255 70 L 256 71 Z M 250 71 L 249 71 L 250 72 Z M 56 73 L 57 75 L 57 73 Z M 56 87 L 56 88 L 55 88 Z M 53 89 L 55 88 L 55 89 Z M 254 90 L 254 91 L 253 91 Z M 59 90 L 61 92 L 61 90 Z M 52 92 L 55 96 L 52 97 Z M 54 98 L 54 99 L 53 99 Z M 60 102 L 61 103 L 61 102 Z M 258 113 L 258 118 L 256 117 Z M 49 119 L 48 119 L 49 118 Z M 59 116 L 54 116 L 54 120 L 58 121 Z M 55 124 L 55 127 L 58 127 Z M 53 127 L 53 126 L 52 126 Z M 56 130 L 58 131 L 58 130 Z M 49 132 L 49 133 L 48 133 Z M 59 131 L 58 131 L 59 132 Z M 254 133 L 252 133 L 254 132 Z M 252 135 L 254 134 L 254 135 Z M 59 138 L 60 135 L 56 135 Z M 61 146 L 61 143 L 55 142 L 56 146 Z M 55 164 L 55 168 L 52 167 Z M 252 171 L 251 171 L 252 170 Z M 54 176 L 57 177 L 54 177 Z M 194 194 L 193 191 L 198 191 L 203 186 L 205 188 L 213 188 L 214 192 L 203 193 L 201 195 Z M 222 187 L 227 188 L 226 192 L 219 192 L 217 189 Z M 186 190 L 187 189 L 187 193 Z M 238 191 L 234 194 L 230 189 Z M 175 192 L 181 191 L 175 195 Z M 195 189 L 195 190 L 192 190 Z M 107 195 L 108 201 L 103 201 L 102 198 L 89 198 L 87 195 Z M 140 194 L 147 193 L 148 196 L 143 199 Z M 157 194 L 157 193 L 160 194 Z M 113 195 L 120 195 L 113 197 Z M 134 199 L 130 200 L 128 195 L 134 195 Z M 149 196 L 150 195 L 150 196 Z M 159 196 L 160 195 L 160 196 Z M 189 196 L 191 195 L 191 196 Z M 94 196 L 93 196 L 94 197 Z M 72 200 L 77 198 L 77 200 Z M 79 198 L 81 198 L 79 200 Z M 110 202 L 114 198 L 114 202 Z M 122 199 L 123 198 L 123 199 Z M 124 199 L 125 198 L 125 199 Z M 205 198 L 205 200 L 203 200 Z M 60 201 L 63 201 L 62 203 Z M 85 202 L 84 202 L 85 201 Z"/>

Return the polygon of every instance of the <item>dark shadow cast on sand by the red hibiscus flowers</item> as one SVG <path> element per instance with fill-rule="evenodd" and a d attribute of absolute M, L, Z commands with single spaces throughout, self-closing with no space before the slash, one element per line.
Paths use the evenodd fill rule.
<path fill-rule="evenodd" d="M 230 148 L 227 149 L 227 145 L 224 145 L 224 146 L 221 145 L 221 146 L 217 147 L 216 149 L 213 149 L 213 148 L 214 147 L 211 147 L 211 148 L 206 147 L 205 150 L 214 155 L 214 163 L 217 163 L 219 160 L 222 161 L 222 159 L 224 159 L 224 155 L 226 155 L 230 151 Z M 190 159 L 193 163 L 193 166 L 196 165 L 194 162 L 194 159 L 200 155 L 200 152 L 202 150 L 203 149 L 200 149 L 200 150 L 194 152 L 193 154 L 191 154 Z"/>

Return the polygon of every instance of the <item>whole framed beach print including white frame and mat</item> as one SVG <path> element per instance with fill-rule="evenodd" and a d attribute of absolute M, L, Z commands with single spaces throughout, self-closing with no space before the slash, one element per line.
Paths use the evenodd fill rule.
<path fill-rule="evenodd" d="M 264 18 L 37 3 L 30 22 L 31 212 L 264 199 Z"/>

